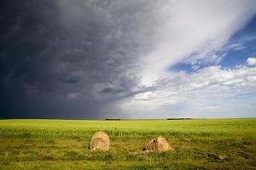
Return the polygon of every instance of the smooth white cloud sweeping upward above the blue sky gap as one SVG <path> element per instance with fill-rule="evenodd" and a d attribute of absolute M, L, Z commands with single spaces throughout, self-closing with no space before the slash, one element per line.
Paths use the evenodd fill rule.
<path fill-rule="evenodd" d="M 168 1 L 155 3 L 152 51 L 142 57 L 143 82 L 169 74 L 177 61 L 218 64 L 215 54 L 256 12 L 255 1 Z M 155 5 L 155 6 L 157 6 Z M 191 55 L 194 54 L 194 55 Z"/>

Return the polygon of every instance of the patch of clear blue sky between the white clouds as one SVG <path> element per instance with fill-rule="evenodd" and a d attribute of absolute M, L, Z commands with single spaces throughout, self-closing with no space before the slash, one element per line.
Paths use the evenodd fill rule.
<path fill-rule="evenodd" d="M 209 65 L 222 65 L 224 68 L 235 68 L 236 65 L 246 65 L 248 57 L 255 57 L 256 55 L 256 16 L 247 23 L 240 31 L 237 31 L 230 41 L 222 48 L 217 49 L 215 53 L 210 55 L 221 56 L 224 55 L 221 62 L 201 62 L 198 61 L 196 65 L 188 62 L 178 62 L 168 68 L 169 71 L 186 71 L 193 72 L 200 68 Z M 190 54 L 193 57 L 196 54 Z M 210 57 L 210 56 L 209 56 Z"/>

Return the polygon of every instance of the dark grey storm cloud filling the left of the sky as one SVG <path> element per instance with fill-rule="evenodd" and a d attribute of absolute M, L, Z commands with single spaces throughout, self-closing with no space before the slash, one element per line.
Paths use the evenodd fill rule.
<path fill-rule="evenodd" d="M 150 4 L 1 1 L 0 116 L 104 117 L 149 90 L 134 68 L 150 48 Z"/>

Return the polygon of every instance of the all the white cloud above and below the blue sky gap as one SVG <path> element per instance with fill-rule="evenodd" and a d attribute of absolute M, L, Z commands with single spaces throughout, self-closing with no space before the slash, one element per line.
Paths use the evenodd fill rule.
<path fill-rule="evenodd" d="M 120 101 L 118 111 L 142 117 L 256 116 L 256 69 L 226 70 L 219 65 L 225 51 L 245 48 L 228 42 L 255 9 L 255 1 L 168 1 L 154 10 L 159 20 L 153 48 L 142 57 L 139 72 L 142 84 L 154 91 Z M 166 69 L 177 62 L 190 63 L 196 72 Z M 201 63 L 213 66 L 200 69 Z"/>

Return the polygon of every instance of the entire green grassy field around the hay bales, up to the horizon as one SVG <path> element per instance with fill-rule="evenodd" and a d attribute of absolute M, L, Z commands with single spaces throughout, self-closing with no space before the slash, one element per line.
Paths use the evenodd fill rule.
<path fill-rule="evenodd" d="M 108 151 L 88 150 L 98 130 L 109 134 Z M 160 135 L 175 151 L 143 153 Z M 256 118 L 1 120 L 0 153 L 0 169 L 256 169 Z"/>

